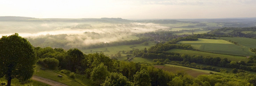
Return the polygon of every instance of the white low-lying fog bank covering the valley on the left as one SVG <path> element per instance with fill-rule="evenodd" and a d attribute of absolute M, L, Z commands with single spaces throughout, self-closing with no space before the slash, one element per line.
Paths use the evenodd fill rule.
<path fill-rule="evenodd" d="M 155 23 L 102 23 L 102 22 L 0 22 L 0 35 L 9 36 L 18 33 L 28 38 L 33 46 L 47 47 L 33 39 L 43 38 L 44 41 L 61 40 L 66 46 L 77 48 L 99 42 L 137 39 L 133 35 L 152 32 L 158 29 L 170 29 Z M 66 34 L 64 37 L 51 35 Z M 32 41 L 33 40 L 33 41 Z M 42 40 L 41 40 L 42 41 Z M 44 45 L 44 46 L 43 46 Z M 58 46 L 51 46 L 58 47 Z"/>

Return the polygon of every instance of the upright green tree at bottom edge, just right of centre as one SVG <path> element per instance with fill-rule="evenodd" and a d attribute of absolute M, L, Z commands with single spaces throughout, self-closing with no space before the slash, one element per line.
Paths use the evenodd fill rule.
<path fill-rule="evenodd" d="M 151 86 L 149 73 L 145 69 L 138 71 L 133 77 L 135 86 Z"/>

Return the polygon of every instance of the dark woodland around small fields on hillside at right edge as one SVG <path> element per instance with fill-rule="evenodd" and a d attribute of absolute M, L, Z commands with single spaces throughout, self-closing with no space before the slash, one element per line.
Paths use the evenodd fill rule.
<path fill-rule="evenodd" d="M 225 31 L 230 31 L 227 33 L 224 33 Z M 210 31 L 209 34 L 215 34 L 215 35 L 228 35 L 233 37 L 246 37 L 246 38 L 256 38 L 256 34 L 248 33 L 244 34 L 242 31 L 256 31 L 256 27 L 246 27 L 246 28 L 221 28 L 216 29 L 213 31 Z"/>

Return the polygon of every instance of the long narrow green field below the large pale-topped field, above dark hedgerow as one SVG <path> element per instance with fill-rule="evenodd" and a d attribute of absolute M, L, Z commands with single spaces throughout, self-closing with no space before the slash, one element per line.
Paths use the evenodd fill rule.
<path fill-rule="evenodd" d="M 227 58 L 231 61 L 247 61 L 247 57 L 242 56 L 232 56 L 232 55 L 223 55 L 223 54 L 213 54 L 209 52 L 202 52 L 202 51 L 194 51 L 194 50 L 183 50 L 183 49 L 171 49 L 168 52 L 177 52 L 179 54 L 188 54 L 188 55 L 200 55 L 200 56 L 211 56 L 211 57 L 220 57 L 221 59 Z"/>

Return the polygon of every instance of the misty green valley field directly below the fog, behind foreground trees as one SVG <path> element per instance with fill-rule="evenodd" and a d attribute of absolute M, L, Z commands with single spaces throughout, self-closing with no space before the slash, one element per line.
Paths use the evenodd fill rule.
<path fill-rule="evenodd" d="M 135 44 L 135 45 L 121 45 L 121 46 L 111 46 L 111 47 L 102 47 L 102 48 L 93 48 L 93 49 L 80 49 L 84 54 L 90 54 L 90 53 L 95 53 L 95 52 L 101 52 L 103 51 L 105 55 L 114 55 L 117 54 L 119 51 L 130 51 L 133 50 L 130 47 L 133 47 L 135 49 L 143 50 L 144 48 L 149 49 L 151 46 L 156 45 L 154 42 L 149 42 L 149 45 L 145 46 L 142 44 Z M 107 48 L 107 50 L 106 50 Z M 92 52 L 90 52 L 92 50 Z M 121 54 L 122 57 L 126 56 L 127 54 Z"/>

